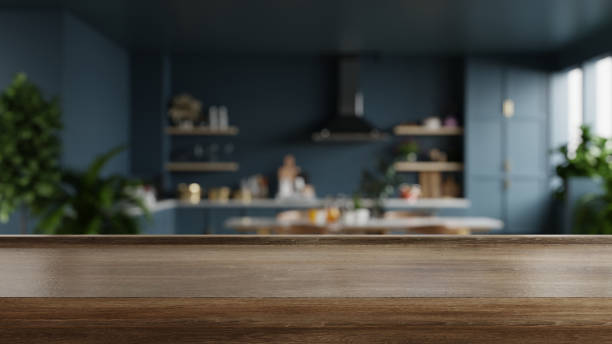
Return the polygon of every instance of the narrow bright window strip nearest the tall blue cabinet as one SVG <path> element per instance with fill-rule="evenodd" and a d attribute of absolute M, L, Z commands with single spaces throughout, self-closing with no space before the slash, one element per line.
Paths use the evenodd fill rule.
<path fill-rule="evenodd" d="M 582 69 L 572 69 L 567 74 L 567 130 L 568 151 L 576 152 L 580 144 L 580 126 L 582 125 Z"/>

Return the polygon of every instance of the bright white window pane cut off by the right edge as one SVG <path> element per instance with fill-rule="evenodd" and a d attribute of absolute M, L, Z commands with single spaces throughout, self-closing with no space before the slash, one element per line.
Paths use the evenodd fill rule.
<path fill-rule="evenodd" d="M 612 137 L 612 57 L 595 63 L 595 77 L 595 131 L 609 138 Z"/>

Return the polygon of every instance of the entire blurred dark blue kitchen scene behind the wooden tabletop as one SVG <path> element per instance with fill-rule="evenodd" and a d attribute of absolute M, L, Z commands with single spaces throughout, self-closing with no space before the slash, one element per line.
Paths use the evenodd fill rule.
<path fill-rule="evenodd" d="M 612 233 L 610 34 L 606 0 L 0 1 L 0 233 Z"/>

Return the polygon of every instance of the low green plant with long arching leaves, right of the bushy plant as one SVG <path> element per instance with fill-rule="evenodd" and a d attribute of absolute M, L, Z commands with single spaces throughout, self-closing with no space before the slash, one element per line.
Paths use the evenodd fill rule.
<path fill-rule="evenodd" d="M 118 175 L 101 177 L 104 165 L 124 150 L 117 147 L 98 156 L 83 172 L 64 171 L 61 184 L 46 203 L 37 231 L 44 234 L 138 234 L 139 222 L 128 213 L 139 208 L 150 217 L 142 199 L 134 195 L 138 180 Z"/>

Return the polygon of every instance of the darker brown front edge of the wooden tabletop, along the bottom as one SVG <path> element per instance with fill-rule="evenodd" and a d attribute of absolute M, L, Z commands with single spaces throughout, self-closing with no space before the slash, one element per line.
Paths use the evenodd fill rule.
<path fill-rule="evenodd" d="M 3 343 L 610 343 L 610 299 L 0 299 Z"/>

